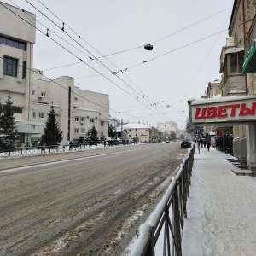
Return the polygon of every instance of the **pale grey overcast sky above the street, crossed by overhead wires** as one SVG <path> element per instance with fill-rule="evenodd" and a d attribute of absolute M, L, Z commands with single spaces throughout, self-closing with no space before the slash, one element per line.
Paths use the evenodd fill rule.
<path fill-rule="evenodd" d="M 36 14 L 38 29 L 49 29 L 49 38 L 36 31 L 35 68 L 49 79 L 71 76 L 81 89 L 108 94 L 110 115 L 125 122 L 176 121 L 183 128 L 188 99 L 221 79 L 233 0 L 3 2 Z M 90 60 L 102 55 L 108 56 Z"/>

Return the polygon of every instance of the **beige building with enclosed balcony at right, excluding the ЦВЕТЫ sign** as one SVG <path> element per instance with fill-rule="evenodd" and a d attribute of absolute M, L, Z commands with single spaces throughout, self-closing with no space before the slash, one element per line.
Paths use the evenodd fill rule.
<path fill-rule="evenodd" d="M 256 37 L 255 7 L 256 1 L 234 1 L 229 38 L 227 38 L 227 44 L 223 47 L 220 55 L 220 73 L 223 73 L 223 76 L 219 89 L 222 96 L 254 95 L 256 83 L 253 81 L 253 72 L 256 70 L 255 67 L 254 70 L 250 67 L 253 66 L 255 56 L 251 57 L 252 52 L 251 55 L 248 55 L 248 52 L 253 47 Z M 232 135 L 235 138 L 235 144 L 236 141 L 244 141 L 245 143 L 242 144 L 247 144 L 242 151 L 247 155 L 247 166 L 250 166 L 250 162 L 255 159 L 255 156 L 249 156 L 253 144 L 253 148 L 255 148 L 255 143 L 252 143 L 255 141 L 255 125 L 227 125 L 222 131 L 224 137 Z M 240 152 L 241 146 L 235 146 L 234 155 L 239 158 Z"/>

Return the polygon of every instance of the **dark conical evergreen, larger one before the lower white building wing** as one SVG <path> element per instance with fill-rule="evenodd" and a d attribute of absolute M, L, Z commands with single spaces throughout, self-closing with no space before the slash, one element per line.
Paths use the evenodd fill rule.
<path fill-rule="evenodd" d="M 50 107 L 48 113 L 48 120 L 44 126 L 44 134 L 41 137 L 41 144 L 47 144 L 47 146 L 56 145 L 61 143 L 63 131 L 60 130 L 57 120 L 55 119 L 55 110 L 54 107 Z"/>

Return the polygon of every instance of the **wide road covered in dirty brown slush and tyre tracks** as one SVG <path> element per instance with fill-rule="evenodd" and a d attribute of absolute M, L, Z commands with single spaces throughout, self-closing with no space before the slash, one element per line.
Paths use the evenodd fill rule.
<path fill-rule="evenodd" d="M 0 255 L 120 255 L 186 149 L 148 143 L 0 160 Z"/>

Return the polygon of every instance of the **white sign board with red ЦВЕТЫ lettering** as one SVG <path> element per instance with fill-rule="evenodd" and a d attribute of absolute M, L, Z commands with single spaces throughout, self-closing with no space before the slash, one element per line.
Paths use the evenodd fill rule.
<path fill-rule="evenodd" d="M 256 121 L 256 97 L 234 96 L 195 100 L 192 123 L 240 123 Z"/>

